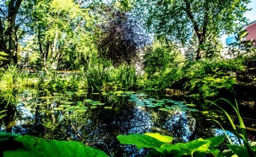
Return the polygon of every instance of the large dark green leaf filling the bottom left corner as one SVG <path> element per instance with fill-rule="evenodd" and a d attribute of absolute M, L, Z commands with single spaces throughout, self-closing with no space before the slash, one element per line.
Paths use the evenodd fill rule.
<path fill-rule="evenodd" d="M 0 132 L 0 153 L 4 157 L 107 156 L 103 151 L 74 141 L 57 141 Z"/>

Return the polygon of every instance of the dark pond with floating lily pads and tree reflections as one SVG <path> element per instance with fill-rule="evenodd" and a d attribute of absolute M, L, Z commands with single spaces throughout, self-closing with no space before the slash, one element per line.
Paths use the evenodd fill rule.
<path fill-rule="evenodd" d="M 120 145 L 119 134 L 161 133 L 174 137 L 175 142 L 218 134 L 218 127 L 205 121 L 205 111 L 200 112 L 196 104 L 183 97 L 145 93 L 57 93 L 35 89 L 2 93 L 8 107 L 1 131 L 76 140 L 111 156 L 145 156 L 148 152 Z"/>

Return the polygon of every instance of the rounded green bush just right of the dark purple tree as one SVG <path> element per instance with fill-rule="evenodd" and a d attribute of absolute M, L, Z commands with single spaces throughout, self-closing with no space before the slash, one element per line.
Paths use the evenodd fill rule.
<path fill-rule="evenodd" d="M 183 61 L 175 44 L 155 41 L 145 49 L 143 64 L 148 80 L 144 80 L 144 88 L 165 89 L 172 81 L 181 78 Z"/>

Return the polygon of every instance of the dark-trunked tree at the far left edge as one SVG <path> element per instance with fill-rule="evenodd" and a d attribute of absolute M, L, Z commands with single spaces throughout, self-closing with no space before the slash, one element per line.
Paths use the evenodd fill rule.
<path fill-rule="evenodd" d="M 10 0 L 0 3 L 0 51 L 8 54 L 8 62 L 17 63 L 17 29 L 16 17 L 19 13 L 22 0 Z M 8 62 L 5 62 L 7 64 Z"/>

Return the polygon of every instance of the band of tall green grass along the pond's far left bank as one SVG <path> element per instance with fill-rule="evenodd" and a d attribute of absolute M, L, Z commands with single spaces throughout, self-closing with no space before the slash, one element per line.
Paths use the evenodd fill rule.
<path fill-rule="evenodd" d="M 134 65 L 119 65 L 97 59 L 94 65 L 71 72 L 69 75 L 60 75 L 56 70 L 43 71 L 43 75 L 29 74 L 21 71 L 17 65 L 7 65 L 0 71 L 0 89 L 19 88 L 22 86 L 39 86 L 52 91 L 89 90 L 101 92 L 106 90 L 132 89 L 137 86 L 138 75 Z"/>

